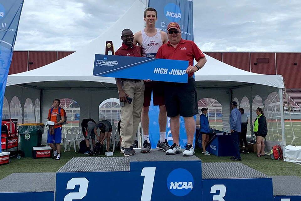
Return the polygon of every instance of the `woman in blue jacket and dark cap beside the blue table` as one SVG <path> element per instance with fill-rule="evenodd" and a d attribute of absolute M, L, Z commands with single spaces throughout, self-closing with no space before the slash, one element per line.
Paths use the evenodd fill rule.
<path fill-rule="evenodd" d="M 206 151 L 206 145 L 209 142 L 209 120 L 208 120 L 208 108 L 201 109 L 202 114 L 200 115 L 200 133 L 202 134 L 202 147 L 204 155 L 210 155 L 209 151 Z"/>

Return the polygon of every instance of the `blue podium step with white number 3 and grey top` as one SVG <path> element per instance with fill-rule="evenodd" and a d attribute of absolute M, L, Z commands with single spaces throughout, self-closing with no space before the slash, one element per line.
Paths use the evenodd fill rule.
<path fill-rule="evenodd" d="M 242 163 L 203 163 L 203 201 L 273 201 L 272 178 Z"/>

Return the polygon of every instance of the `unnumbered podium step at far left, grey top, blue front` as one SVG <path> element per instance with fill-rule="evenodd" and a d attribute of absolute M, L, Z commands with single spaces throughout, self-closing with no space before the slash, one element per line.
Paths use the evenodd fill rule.
<path fill-rule="evenodd" d="M 13 173 L 0 180 L 0 200 L 53 201 L 55 173 Z"/>

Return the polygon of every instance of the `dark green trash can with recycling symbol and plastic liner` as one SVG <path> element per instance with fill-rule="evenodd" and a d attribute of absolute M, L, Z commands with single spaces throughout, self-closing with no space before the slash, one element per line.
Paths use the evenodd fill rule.
<path fill-rule="evenodd" d="M 21 139 L 20 150 L 24 157 L 32 157 L 32 148 L 41 146 L 44 126 L 44 123 L 24 123 L 18 125 Z"/>

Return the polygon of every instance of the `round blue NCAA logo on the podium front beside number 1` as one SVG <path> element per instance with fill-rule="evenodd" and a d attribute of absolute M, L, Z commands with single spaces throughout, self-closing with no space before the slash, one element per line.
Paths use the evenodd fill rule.
<path fill-rule="evenodd" d="M 193 177 L 188 170 L 178 168 L 169 173 L 167 188 L 176 196 L 184 196 L 193 189 Z"/>

